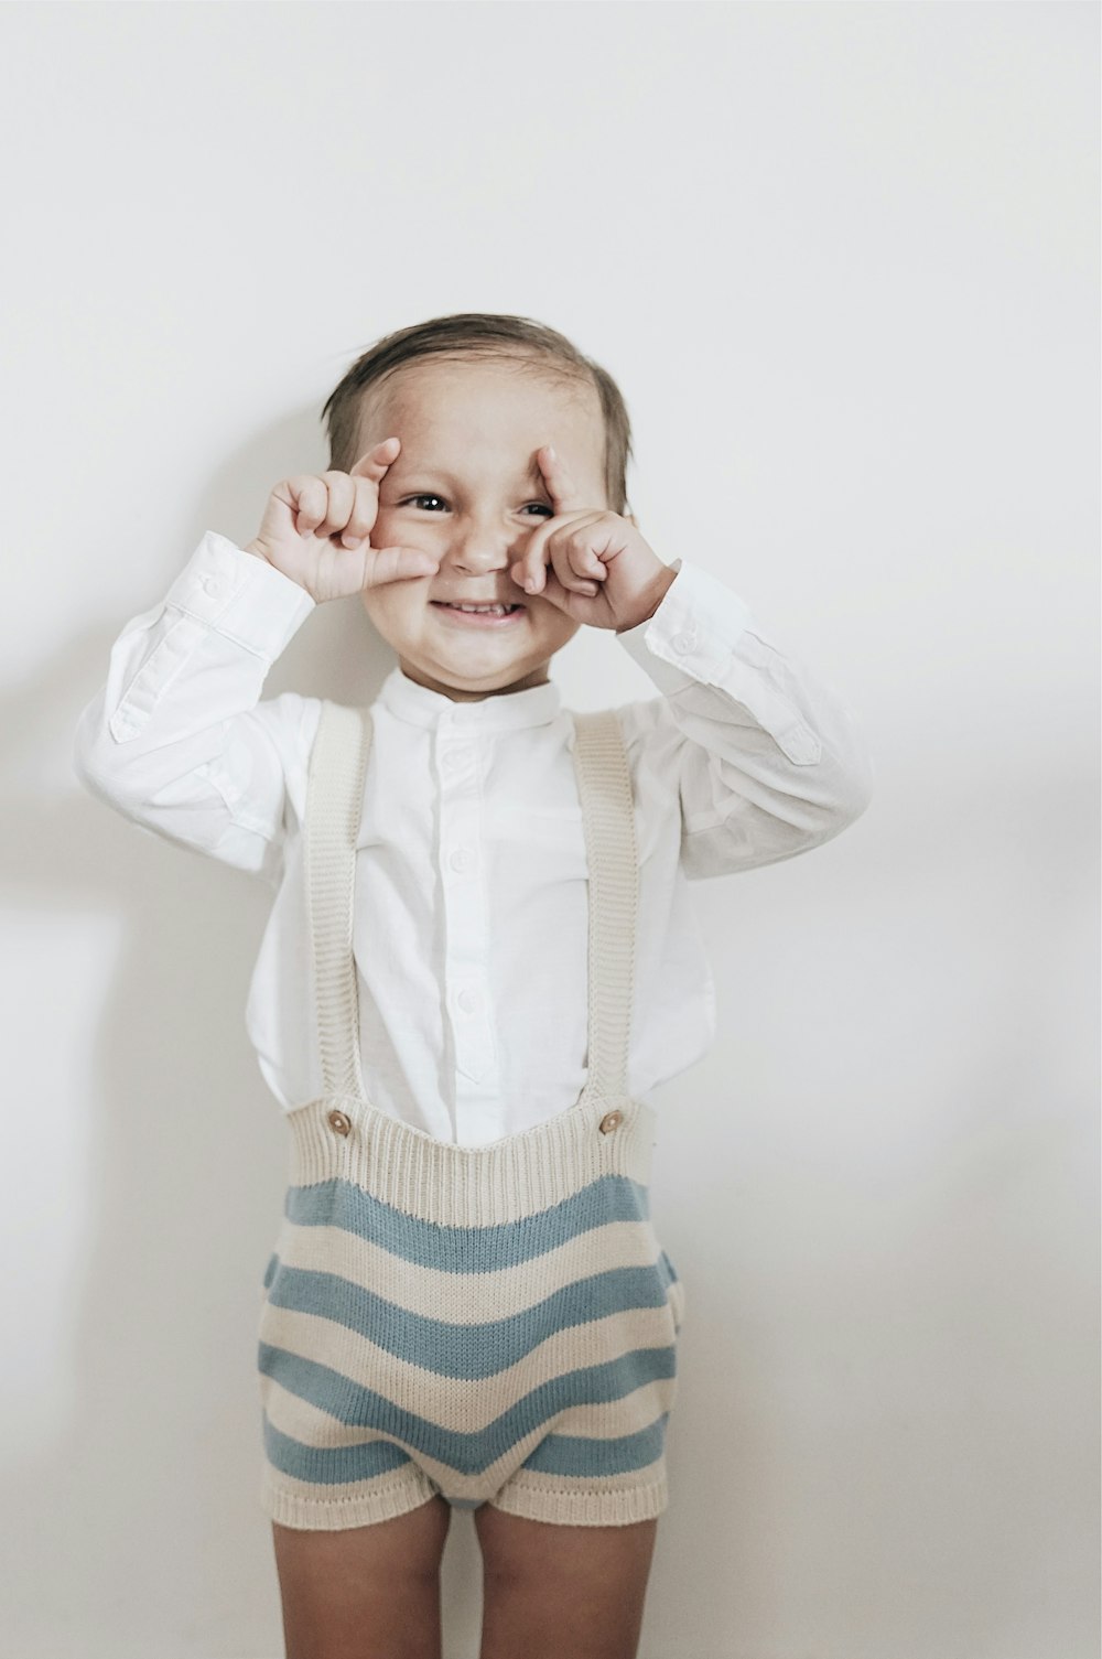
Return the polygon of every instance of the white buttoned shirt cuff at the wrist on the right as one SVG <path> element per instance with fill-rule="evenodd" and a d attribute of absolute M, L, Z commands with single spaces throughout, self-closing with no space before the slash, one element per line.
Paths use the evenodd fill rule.
<path fill-rule="evenodd" d="M 652 617 L 617 634 L 624 650 L 666 695 L 687 685 L 722 685 L 739 637 L 753 625 L 747 604 L 689 559 L 674 559 L 677 576 Z"/>

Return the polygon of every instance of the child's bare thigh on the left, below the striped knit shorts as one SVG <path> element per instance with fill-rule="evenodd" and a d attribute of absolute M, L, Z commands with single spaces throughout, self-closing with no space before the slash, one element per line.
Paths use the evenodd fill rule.
<path fill-rule="evenodd" d="M 440 1659 L 440 1561 L 451 1508 L 339 1533 L 272 1521 L 287 1659 Z"/>

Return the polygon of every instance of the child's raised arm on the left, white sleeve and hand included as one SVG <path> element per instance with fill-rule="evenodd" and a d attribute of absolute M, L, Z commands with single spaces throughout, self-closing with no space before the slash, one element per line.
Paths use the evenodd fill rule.
<path fill-rule="evenodd" d="M 289 811 L 300 820 L 305 806 L 320 703 L 290 692 L 259 702 L 272 662 L 315 604 L 436 567 L 370 546 L 395 443 L 352 473 L 284 479 L 247 549 L 209 531 L 163 602 L 126 624 L 76 728 L 75 770 L 93 795 L 276 879 Z"/>

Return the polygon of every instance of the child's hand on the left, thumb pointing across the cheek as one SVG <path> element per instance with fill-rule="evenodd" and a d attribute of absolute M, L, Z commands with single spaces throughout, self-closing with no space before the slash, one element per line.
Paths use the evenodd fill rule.
<path fill-rule="evenodd" d="M 408 576 L 435 576 L 436 559 L 417 547 L 372 547 L 378 484 L 400 438 L 383 438 L 350 473 L 299 473 L 276 484 L 256 539 L 244 549 L 267 559 L 319 604 Z"/>

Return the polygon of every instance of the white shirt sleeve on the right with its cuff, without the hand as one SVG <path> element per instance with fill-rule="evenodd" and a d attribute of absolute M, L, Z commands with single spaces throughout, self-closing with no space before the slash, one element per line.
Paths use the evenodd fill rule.
<path fill-rule="evenodd" d="M 835 690 L 785 657 L 744 601 L 689 559 L 657 611 L 616 639 L 664 693 L 641 765 L 680 795 L 690 879 L 793 858 L 853 823 L 871 758 Z"/>

